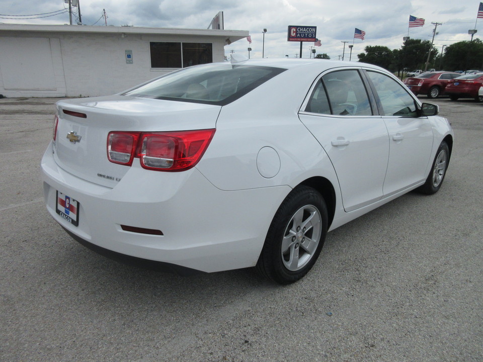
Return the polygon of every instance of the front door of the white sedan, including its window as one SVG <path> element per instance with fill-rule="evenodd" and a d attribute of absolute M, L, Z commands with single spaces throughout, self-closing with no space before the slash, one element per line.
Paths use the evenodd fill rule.
<path fill-rule="evenodd" d="M 390 196 L 427 177 L 433 129 L 427 117 L 419 117 L 417 103 L 403 85 L 377 71 L 368 70 L 366 74 L 389 133 L 383 195 Z"/>

